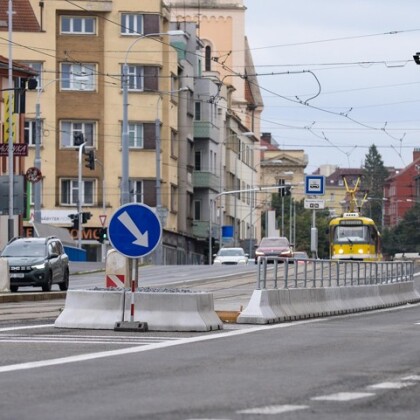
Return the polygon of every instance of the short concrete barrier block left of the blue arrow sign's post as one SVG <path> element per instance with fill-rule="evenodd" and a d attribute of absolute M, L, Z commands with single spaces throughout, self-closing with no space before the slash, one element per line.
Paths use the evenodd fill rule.
<path fill-rule="evenodd" d="M 58 328 L 113 330 L 122 321 L 124 291 L 68 290 Z"/>

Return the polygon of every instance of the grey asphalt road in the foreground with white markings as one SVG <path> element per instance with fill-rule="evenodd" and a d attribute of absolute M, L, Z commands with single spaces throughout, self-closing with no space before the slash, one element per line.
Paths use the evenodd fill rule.
<path fill-rule="evenodd" d="M 417 420 L 420 412 L 420 305 L 211 333 L 15 327 L 0 328 L 2 419 Z"/>

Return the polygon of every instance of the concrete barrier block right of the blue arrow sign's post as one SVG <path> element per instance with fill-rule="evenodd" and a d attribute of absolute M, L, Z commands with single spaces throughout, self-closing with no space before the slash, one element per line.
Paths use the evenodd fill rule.
<path fill-rule="evenodd" d="M 130 319 L 131 292 L 126 294 L 125 320 Z M 206 292 L 136 292 L 134 320 L 149 331 L 212 331 L 223 329 L 214 310 L 213 294 Z"/>

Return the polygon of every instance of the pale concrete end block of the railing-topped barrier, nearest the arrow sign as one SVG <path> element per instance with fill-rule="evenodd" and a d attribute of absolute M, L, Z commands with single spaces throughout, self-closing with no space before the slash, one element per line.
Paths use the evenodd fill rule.
<path fill-rule="evenodd" d="M 236 322 L 238 324 L 270 324 L 278 322 L 279 318 L 271 308 L 269 295 L 277 294 L 277 289 L 254 290 L 247 307 L 239 314 Z"/>

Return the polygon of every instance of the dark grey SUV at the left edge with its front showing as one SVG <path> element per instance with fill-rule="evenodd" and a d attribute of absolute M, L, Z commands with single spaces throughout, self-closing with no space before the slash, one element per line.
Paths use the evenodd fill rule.
<path fill-rule="evenodd" d="M 42 287 L 44 292 L 49 292 L 53 284 L 58 284 L 60 290 L 69 287 L 69 257 L 55 236 L 13 238 L 1 257 L 9 264 L 12 292 L 22 286 Z"/>

